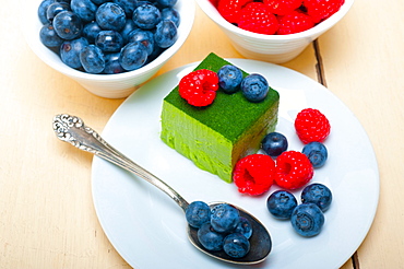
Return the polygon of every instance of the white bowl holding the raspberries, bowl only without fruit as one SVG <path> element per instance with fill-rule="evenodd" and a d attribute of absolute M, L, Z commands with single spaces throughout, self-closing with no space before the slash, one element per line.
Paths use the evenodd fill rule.
<path fill-rule="evenodd" d="M 298 56 L 312 40 L 334 26 L 350 9 L 354 0 L 345 0 L 341 9 L 314 27 L 292 35 L 263 35 L 245 31 L 227 22 L 209 0 L 197 0 L 203 12 L 229 37 L 243 57 L 283 63 Z"/>

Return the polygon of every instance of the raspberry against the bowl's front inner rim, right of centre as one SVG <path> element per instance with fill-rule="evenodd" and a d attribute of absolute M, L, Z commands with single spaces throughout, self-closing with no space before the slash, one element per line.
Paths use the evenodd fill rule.
<path fill-rule="evenodd" d="M 280 16 L 278 35 L 289 35 L 304 32 L 314 26 L 311 16 L 299 11 L 293 11 L 287 15 Z"/>

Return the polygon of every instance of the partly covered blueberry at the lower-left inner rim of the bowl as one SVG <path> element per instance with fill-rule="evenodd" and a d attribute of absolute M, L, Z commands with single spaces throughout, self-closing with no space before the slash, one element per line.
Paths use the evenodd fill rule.
<path fill-rule="evenodd" d="M 60 45 L 60 58 L 62 62 L 74 69 L 81 68 L 80 52 L 87 45 L 88 42 L 84 37 L 63 42 Z"/>

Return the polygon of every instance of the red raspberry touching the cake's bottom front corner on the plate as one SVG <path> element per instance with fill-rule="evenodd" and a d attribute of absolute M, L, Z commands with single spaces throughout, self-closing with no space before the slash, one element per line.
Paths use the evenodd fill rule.
<path fill-rule="evenodd" d="M 274 182 L 275 163 L 269 155 L 251 154 L 239 160 L 233 172 L 233 180 L 241 194 L 259 196 Z"/>

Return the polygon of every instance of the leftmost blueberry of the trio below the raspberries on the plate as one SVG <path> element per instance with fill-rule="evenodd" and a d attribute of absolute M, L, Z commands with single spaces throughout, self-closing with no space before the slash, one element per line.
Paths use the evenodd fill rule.
<path fill-rule="evenodd" d="M 280 220 L 290 219 L 292 212 L 296 207 L 296 197 L 286 190 L 276 190 L 266 199 L 268 210 Z"/>

